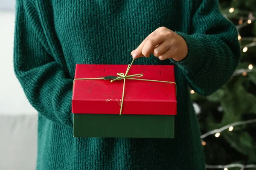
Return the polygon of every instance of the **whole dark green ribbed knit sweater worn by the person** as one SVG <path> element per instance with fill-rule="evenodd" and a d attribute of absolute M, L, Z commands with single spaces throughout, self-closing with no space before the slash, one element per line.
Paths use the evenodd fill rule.
<path fill-rule="evenodd" d="M 175 62 L 175 139 L 74 138 L 76 64 L 130 64 L 131 51 L 160 26 L 180 34 L 189 52 Z M 217 0 L 17 0 L 14 68 L 38 111 L 38 170 L 204 170 L 188 87 L 209 95 L 240 58 L 235 26 Z"/>

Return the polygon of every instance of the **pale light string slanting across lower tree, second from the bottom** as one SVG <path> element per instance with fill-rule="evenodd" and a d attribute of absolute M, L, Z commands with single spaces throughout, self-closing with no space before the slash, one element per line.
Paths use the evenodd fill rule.
<path fill-rule="evenodd" d="M 214 129 L 214 130 L 211 130 L 207 133 L 204 133 L 201 135 L 201 139 L 204 139 L 205 137 L 209 136 L 209 135 L 212 135 L 212 134 L 215 134 L 215 137 L 217 135 L 217 133 L 220 133 L 223 131 L 223 130 L 226 130 L 228 128 L 230 128 L 230 126 L 238 126 L 238 125 L 246 125 L 246 124 L 249 124 L 249 123 L 256 123 L 256 119 L 251 119 L 251 120 L 246 120 L 246 121 L 240 121 L 240 122 L 234 122 L 234 123 L 231 123 L 230 125 L 226 125 L 224 127 L 221 127 L 219 129 Z M 218 135 L 218 136 L 219 136 Z M 223 167 L 224 168 L 224 167 Z"/>

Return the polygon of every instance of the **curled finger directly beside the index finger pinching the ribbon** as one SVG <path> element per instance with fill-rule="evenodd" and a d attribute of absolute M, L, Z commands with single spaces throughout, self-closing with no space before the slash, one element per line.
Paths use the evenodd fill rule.
<path fill-rule="evenodd" d="M 152 53 L 156 45 L 161 44 L 162 42 L 164 42 L 164 40 L 165 40 L 165 37 L 163 35 L 156 35 L 148 39 L 142 49 L 143 56 L 149 57 L 150 53 Z"/>

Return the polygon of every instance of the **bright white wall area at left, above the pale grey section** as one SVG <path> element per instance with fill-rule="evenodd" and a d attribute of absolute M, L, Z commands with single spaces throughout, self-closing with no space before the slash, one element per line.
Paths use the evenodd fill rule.
<path fill-rule="evenodd" d="M 0 114 L 35 114 L 13 71 L 15 13 L 0 11 Z"/>

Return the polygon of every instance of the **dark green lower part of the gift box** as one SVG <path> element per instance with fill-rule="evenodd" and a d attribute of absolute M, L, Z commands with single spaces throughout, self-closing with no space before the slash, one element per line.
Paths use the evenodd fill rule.
<path fill-rule="evenodd" d="M 174 115 L 74 114 L 74 137 L 174 138 Z"/>

